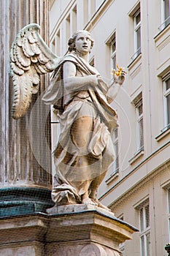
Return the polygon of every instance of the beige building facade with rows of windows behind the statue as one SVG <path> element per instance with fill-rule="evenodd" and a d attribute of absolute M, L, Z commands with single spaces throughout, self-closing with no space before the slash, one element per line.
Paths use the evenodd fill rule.
<path fill-rule="evenodd" d="M 116 159 L 98 191 L 115 216 L 139 228 L 120 244 L 123 255 L 166 255 L 170 241 L 170 3 L 169 0 L 51 0 L 50 47 L 58 56 L 77 29 L 95 40 L 93 64 L 112 84 L 127 72 L 112 106 Z M 60 131 L 52 111 L 53 145 Z"/>

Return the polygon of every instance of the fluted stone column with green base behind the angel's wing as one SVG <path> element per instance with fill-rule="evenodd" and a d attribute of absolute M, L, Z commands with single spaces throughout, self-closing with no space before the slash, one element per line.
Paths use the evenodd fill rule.
<path fill-rule="evenodd" d="M 48 44 L 48 4 L 48 0 L 0 0 L 0 216 L 45 211 L 53 205 L 50 149 L 47 146 L 47 143 L 50 145 L 49 109 L 39 103 L 33 111 L 34 102 L 39 97 L 36 94 L 26 116 L 13 120 L 13 86 L 9 78 L 9 50 L 23 26 L 39 23 L 42 37 Z M 39 94 L 47 83 L 48 76 L 44 76 Z M 32 112 L 34 118 L 30 119 Z M 36 154 L 32 149 L 35 146 Z"/>

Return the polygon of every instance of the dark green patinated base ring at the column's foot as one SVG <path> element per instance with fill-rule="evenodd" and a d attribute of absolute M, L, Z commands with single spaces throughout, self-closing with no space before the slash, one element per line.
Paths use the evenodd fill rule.
<path fill-rule="evenodd" d="M 0 189 L 0 217 L 45 212 L 54 206 L 50 189 L 6 187 Z"/>

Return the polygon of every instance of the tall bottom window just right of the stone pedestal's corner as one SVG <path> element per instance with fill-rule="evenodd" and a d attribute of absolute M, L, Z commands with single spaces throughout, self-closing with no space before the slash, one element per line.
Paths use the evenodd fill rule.
<path fill-rule="evenodd" d="M 139 208 L 141 255 L 151 256 L 150 249 L 150 206 L 149 201 Z"/>

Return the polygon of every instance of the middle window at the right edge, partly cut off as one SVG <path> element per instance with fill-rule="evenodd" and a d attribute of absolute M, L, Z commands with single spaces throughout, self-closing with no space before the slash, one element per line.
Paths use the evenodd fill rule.
<path fill-rule="evenodd" d="M 170 74 L 163 80 L 163 96 L 164 96 L 164 129 L 170 127 Z"/>

